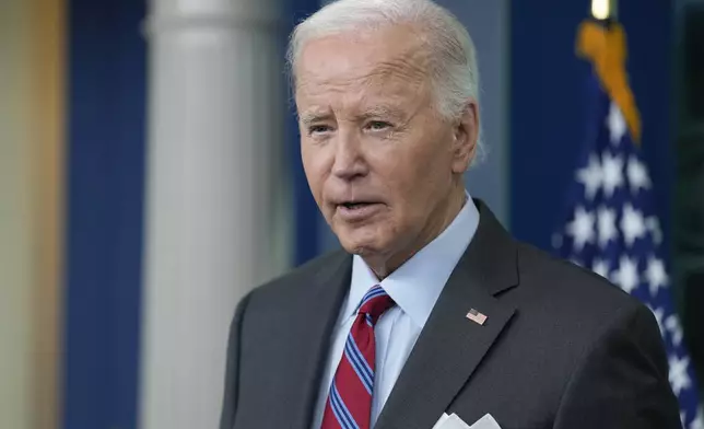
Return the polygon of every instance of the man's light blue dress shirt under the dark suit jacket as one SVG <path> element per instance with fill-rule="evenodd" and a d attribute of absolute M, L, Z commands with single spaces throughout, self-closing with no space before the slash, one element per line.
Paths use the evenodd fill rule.
<path fill-rule="evenodd" d="M 374 426 L 437 298 L 478 225 L 479 211 L 468 195 L 465 207 L 445 231 L 380 282 L 360 256 L 353 257 L 350 291 L 332 331 L 313 429 L 319 429 L 322 422 L 328 391 L 356 317 L 356 306 L 369 288 L 382 285 L 396 306 L 384 313 L 375 327 L 376 371 L 372 403 Z"/>

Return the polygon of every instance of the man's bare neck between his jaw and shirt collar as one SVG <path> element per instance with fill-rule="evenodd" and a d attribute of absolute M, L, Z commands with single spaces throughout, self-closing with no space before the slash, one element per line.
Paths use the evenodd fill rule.
<path fill-rule="evenodd" d="M 421 248 L 435 240 L 455 220 L 465 204 L 467 194 L 464 187 L 453 190 L 448 197 L 431 213 L 432 219 L 420 234 L 415 236 L 402 251 L 390 254 L 363 255 L 362 258 L 379 280 L 384 280 L 397 270 L 408 259 L 413 257 Z"/>

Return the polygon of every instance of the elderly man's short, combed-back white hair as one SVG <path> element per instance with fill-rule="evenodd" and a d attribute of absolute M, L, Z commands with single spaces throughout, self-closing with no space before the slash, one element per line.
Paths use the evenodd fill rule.
<path fill-rule="evenodd" d="M 433 100 L 439 114 L 459 118 L 469 98 L 479 102 L 479 69 L 467 28 L 431 0 L 337 0 L 294 28 L 286 62 L 295 88 L 296 61 L 306 43 L 335 34 L 411 24 L 422 32 L 430 56 Z M 481 136 L 481 132 L 480 132 Z M 481 137 L 478 155 L 482 154 Z"/>

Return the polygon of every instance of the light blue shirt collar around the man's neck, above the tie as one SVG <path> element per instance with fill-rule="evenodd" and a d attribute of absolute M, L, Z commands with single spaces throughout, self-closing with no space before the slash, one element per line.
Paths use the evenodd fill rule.
<path fill-rule="evenodd" d="M 369 288 L 382 285 L 413 323 L 421 328 L 425 326 L 437 298 L 474 236 L 478 225 L 479 211 L 467 194 L 467 202 L 445 231 L 380 283 L 364 259 L 354 255 L 350 292 L 343 304 L 342 320 L 354 315 L 359 302 Z"/>

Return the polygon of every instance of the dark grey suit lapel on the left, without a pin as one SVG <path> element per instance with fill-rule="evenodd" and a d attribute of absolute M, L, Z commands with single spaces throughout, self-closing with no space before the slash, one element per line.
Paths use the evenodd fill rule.
<path fill-rule="evenodd" d="M 290 372 L 292 428 L 309 428 L 313 424 L 332 329 L 350 286 L 352 258 L 343 252 L 339 255 L 315 276 L 312 288 L 301 297 L 306 305 L 292 306 L 295 314 L 291 315 L 291 323 L 306 327 L 302 335 L 290 338 L 288 346 L 293 353 L 301 355 L 296 370 Z"/>

